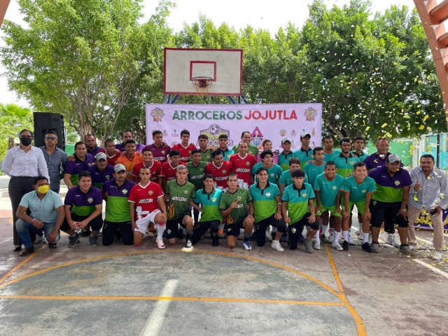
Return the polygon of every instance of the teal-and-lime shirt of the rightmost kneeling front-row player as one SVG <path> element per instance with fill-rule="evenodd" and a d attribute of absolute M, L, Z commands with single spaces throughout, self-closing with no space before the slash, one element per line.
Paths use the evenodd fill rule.
<path fill-rule="evenodd" d="M 309 183 L 303 183 L 300 190 L 293 184 L 285 188 L 281 200 L 288 202 L 288 216 L 291 218 L 290 225 L 297 223 L 307 214 L 308 201 L 314 200 L 314 197 L 314 190 Z"/>

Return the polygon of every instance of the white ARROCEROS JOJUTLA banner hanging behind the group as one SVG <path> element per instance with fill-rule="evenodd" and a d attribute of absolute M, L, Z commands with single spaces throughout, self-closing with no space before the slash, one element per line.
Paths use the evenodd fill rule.
<path fill-rule="evenodd" d="M 160 130 L 164 141 L 181 142 L 181 131 L 190 131 L 190 143 L 206 134 L 209 147 L 218 147 L 218 137 L 227 134 L 229 147 L 241 141 L 243 131 L 251 132 L 252 144 L 262 149 L 262 141 L 272 141 L 281 151 L 281 139 L 292 141 L 292 151 L 300 148 L 300 134 L 311 135 L 311 147 L 321 146 L 322 104 L 146 104 L 146 142 Z"/>

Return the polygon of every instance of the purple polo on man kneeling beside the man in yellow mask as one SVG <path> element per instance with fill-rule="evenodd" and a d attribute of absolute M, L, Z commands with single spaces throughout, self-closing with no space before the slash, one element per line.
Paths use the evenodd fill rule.
<path fill-rule="evenodd" d="M 89 216 L 98 204 L 103 204 L 103 194 L 97 187 L 90 187 L 83 193 L 79 186 L 71 188 L 64 200 L 64 205 L 71 205 L 71 212 L 79 216 Z"/>

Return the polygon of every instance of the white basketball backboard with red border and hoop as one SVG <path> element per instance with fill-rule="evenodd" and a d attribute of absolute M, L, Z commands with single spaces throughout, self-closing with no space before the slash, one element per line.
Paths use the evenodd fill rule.
<path fill-rule="evenodd" d="M 165 94 L 198 94 L 195 85 L 198 81 L 194 78 L 209 78 L 207 94 L 241 96 L 243 50 L 165 48 L 164 51 Z"/>

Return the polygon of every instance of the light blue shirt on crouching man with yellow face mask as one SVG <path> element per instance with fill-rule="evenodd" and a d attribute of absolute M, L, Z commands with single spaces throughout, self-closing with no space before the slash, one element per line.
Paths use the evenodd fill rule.
<path fill-rule="evenodd" d="M 31 211 L 32 218 L 50 223 L 57 220 L 56 209 L 64 204 L 62 204 L 61 197 L 57 193 L 48 190 L 42 200 L 37 196 L 37 191 L 26 193 L 20 200 L 20 205 Z"/>

